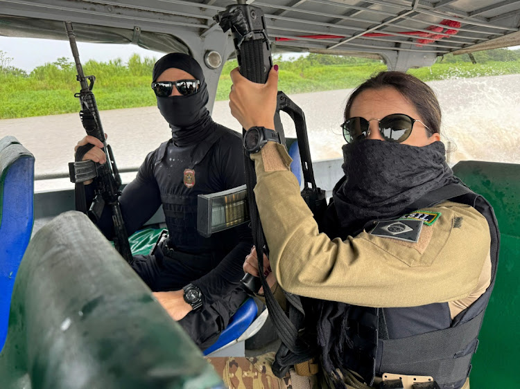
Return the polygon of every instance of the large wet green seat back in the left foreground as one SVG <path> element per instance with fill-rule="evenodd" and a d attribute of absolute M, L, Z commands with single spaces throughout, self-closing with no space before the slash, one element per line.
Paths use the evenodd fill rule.
<path fill-rule="evenodd" d="M 1 388 L 222 387 L 198 347 L 81 212 L 65 212 L 35 233 L 12 296 Z"/>

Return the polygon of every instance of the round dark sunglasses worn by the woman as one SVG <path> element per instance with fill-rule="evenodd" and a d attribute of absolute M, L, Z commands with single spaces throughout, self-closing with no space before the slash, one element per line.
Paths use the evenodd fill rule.
<path fill-rule="evenodd" d="M 381 136 L 388 142 L 401 143 L 406 141 L 412 134 L 413 125 L 419 122 L 424 127 L 426 125 L 421 120 L 410 118 L 405 114 L 392 114 L 382 119 L 349 118 L 341 125 L 343 129 L 343 137 L 347 143 L 353 143 L 365 139 L 370 134 L 370 122 L 377 120 L 379 122 L 379 132 Z M 430 130 L 428 127 L 426 129 Z M 430 130 L 431 131 L 431 130 Z"/>

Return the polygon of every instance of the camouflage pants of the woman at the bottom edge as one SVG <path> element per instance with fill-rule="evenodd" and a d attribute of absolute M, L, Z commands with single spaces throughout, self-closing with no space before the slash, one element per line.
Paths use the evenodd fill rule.
<path fill-rule="evenodd" d="M 318 377 L 303 377 L 291 372 L 278 378 L 271 370 L 275 353 L 260 356 L 234 357 L 218 356 L 207 358 L 216 372 L 230 389 L 318 389 L 322 388 Z"/>

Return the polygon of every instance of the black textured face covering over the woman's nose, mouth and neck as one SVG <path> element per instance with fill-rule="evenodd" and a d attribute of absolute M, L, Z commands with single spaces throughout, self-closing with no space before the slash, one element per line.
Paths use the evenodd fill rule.
<path fill-rule="evenodd" d="M 436 188 L 455 182 L 444 144 L 424 147 L 366 139 L 343 146 L 345 177 L 333 189 L 340 227 L 354 233 L 370 220 L 399 216 Z"/>

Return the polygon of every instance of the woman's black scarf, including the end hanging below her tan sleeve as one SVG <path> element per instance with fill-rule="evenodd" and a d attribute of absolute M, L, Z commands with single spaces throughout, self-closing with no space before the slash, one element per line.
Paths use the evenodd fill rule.
<path fill-rule="evenodd" d="M 333 190 L 340 230 L 327 233 L 331 238 L 355 236 L 371 220 L 399 217 L 424 194 L 457 182 L 441 142 L 415 147 L 366 139 L 343 146 L 343 156 L 345 177 Z M 343 352 L 352 347 L 346 332 L 350 305 L 328 300 L 315 304 L 324 371 L 344 388 L 336 369 L 349 368 Z"/>

